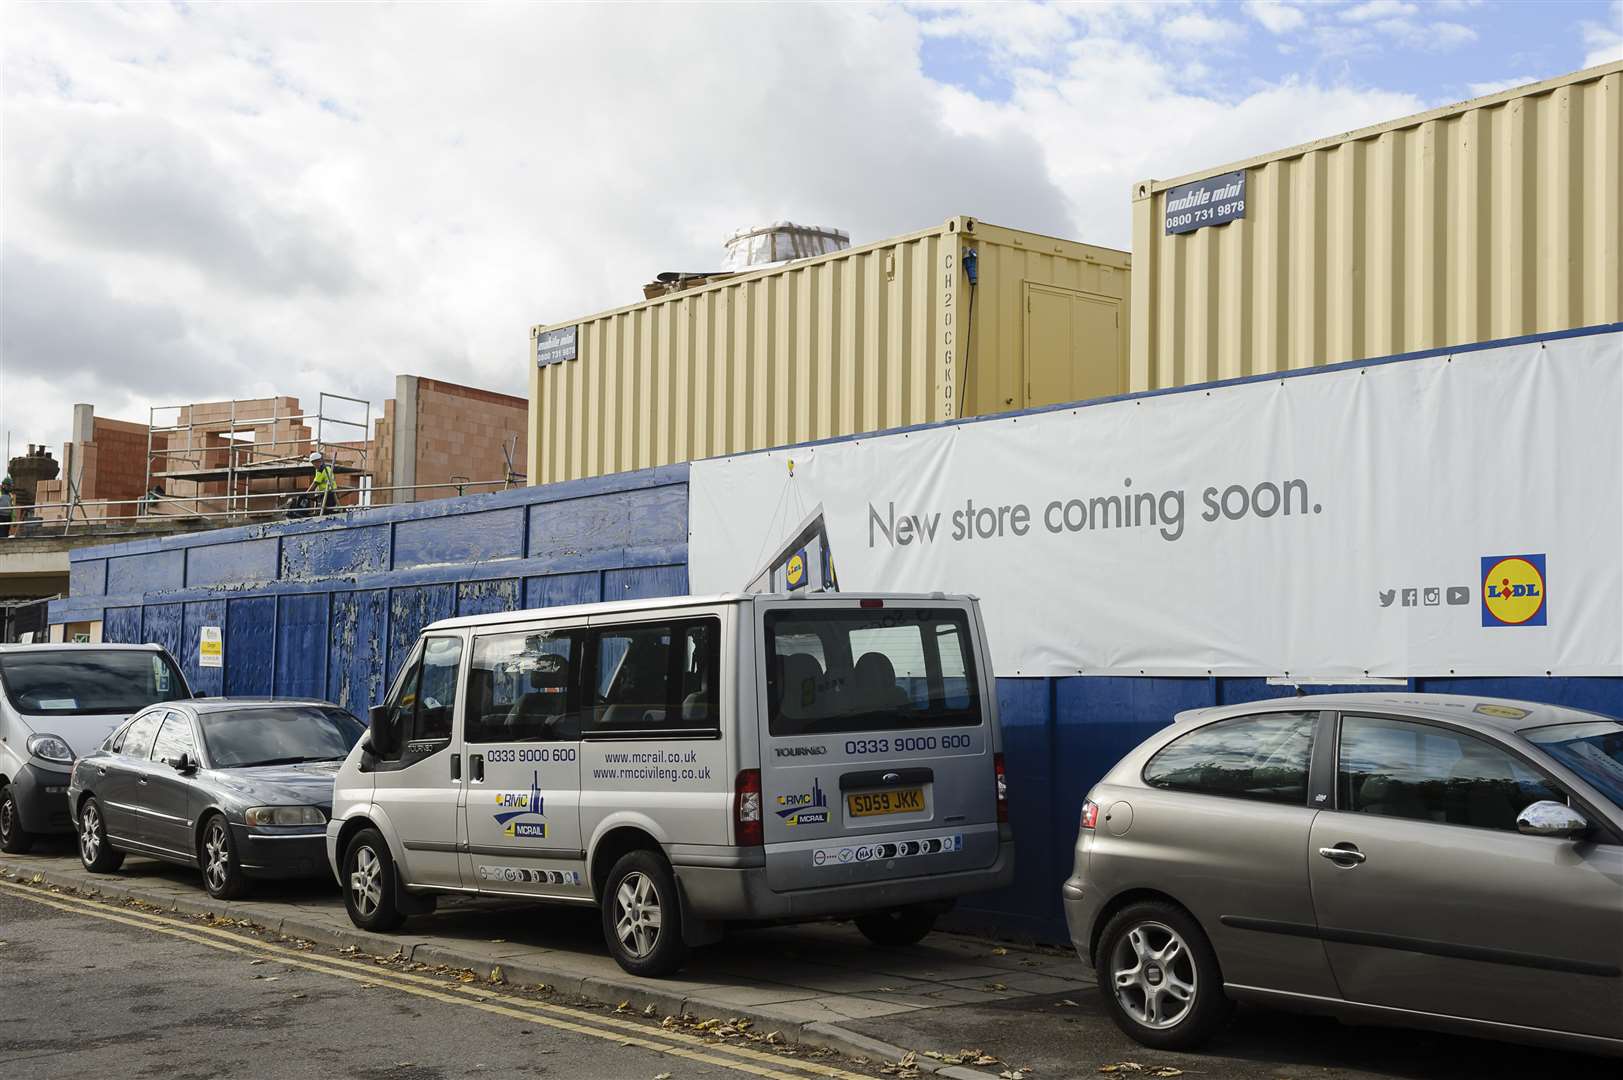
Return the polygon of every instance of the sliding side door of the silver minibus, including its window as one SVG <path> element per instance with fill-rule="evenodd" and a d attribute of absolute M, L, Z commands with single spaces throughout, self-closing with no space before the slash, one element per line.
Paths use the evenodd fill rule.
<path fill-rule="evenodd" d="M 480 893 L 591 898 L 579 815 L 584 643 L 583 627 L 472 640 L 463 879 Z"/>

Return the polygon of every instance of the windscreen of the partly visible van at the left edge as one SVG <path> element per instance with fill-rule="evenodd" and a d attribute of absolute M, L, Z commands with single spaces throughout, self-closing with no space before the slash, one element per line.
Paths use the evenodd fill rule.
<path fill-rule="evenodd" d="M 135 713 L 188 697 L 166 653 L 146 650 L 39 650 L 0 656 L 0 682 L 19 713 L 86 716 Z"/>

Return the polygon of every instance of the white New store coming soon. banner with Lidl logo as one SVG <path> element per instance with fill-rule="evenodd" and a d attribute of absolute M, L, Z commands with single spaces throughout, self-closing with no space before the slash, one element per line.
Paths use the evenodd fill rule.
<path fill-rule="evenodd" d="M 1604 333 L 698 461 L 690 586 L 823 503 L 1000 676 L 1623 676 L 1620 427 Z"/>

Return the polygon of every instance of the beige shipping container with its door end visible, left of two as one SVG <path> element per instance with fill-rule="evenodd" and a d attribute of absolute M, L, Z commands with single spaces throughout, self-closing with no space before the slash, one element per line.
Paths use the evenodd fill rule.
<path fill-rule="evenodd" d="M 531 482 L 1121 393 L 1128 266 L 951 218 L 534 326 Z M 540 365 L 537 339 L 570 326 L 575 359 Z"/>

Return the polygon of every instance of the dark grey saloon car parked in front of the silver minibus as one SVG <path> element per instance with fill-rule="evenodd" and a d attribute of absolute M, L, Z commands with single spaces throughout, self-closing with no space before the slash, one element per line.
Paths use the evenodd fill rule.
<path fill-rule="evenodd" d="M 73 763 L 80 861 L 117 870 L 144 854 L 203 872 L 219 898 L 250 877 L 326 875 L 333 778 L 362 731 L 328 702 L 166 702 Z"/>

